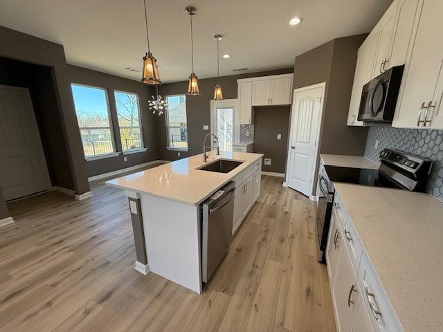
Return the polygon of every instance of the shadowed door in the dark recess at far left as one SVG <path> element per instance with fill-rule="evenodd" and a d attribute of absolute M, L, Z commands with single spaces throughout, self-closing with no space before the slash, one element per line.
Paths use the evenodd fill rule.
<path fill-rule="evenodd" d="M 6 201 L 51 188 L 28 89 L 0 86 L 0 186 Z"/>

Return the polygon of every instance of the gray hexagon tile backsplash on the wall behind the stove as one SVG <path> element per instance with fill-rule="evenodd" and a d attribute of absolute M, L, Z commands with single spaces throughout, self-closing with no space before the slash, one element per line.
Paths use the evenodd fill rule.
<path fill-rule="evenodd" d="M 377 140 L 379 147 L 376 149 Z M 433 160 L 427 191 L 443 201 L 443 130 L 371 127 L 365 157 L 379 163 L 379 153 L 385 147 Z"/>

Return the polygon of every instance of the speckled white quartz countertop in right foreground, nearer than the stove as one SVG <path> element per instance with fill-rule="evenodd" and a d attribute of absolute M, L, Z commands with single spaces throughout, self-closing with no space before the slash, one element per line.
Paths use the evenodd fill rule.
<path fill-rule="evenodd" d="M 405 331 L 443 331 L 443 203 L 335 183 Z"/>

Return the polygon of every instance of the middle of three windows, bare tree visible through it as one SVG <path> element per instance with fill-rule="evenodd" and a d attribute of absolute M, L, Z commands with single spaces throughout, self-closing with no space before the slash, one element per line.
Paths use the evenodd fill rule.
<path fill-rule="evenodd" d="M 141 131 L 138 95 L 120 91 L 116 91 L 114 95 L 123 151 L 142 149 L 143 133 Z"/>

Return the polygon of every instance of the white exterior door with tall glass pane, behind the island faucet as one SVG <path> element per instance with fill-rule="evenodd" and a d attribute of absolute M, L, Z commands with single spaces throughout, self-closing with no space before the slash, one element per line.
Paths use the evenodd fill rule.
<path fill-rule="evenodd" d="M 211 132 L 219 138 L 220 151 L 233 151 L 238 123 L 237 100 L 211 102 Z"/>

